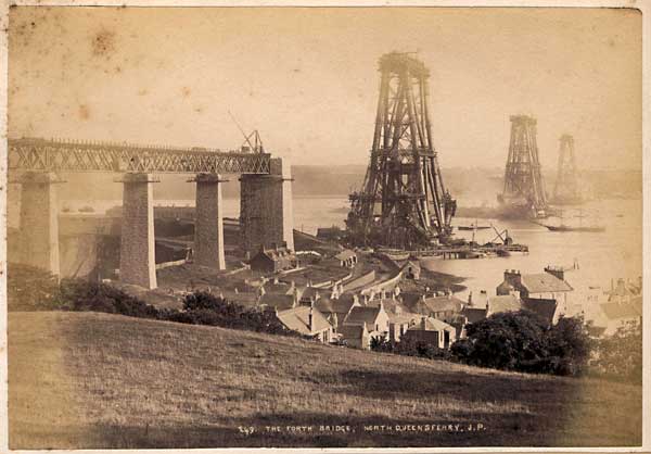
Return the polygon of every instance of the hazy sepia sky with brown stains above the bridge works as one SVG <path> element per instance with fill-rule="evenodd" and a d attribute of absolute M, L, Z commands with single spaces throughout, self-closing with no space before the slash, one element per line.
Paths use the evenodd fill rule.
<path fill-rule="evenodd" d="M 259 129 L 294 164 L 366 164 L 378 59 L 431 70 L 439 163 L 502 166 L 509 115 L 544 166 L 641 167 L 635 10 L 12 8 L 10 137 L 237 148 Z"/>

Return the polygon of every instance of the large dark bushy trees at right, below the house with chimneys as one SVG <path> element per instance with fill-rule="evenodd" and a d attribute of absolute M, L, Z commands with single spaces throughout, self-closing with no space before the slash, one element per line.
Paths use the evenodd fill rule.
<path fill-rule="evenodd" d="M 591 341 L 582 318 L 561 318 L 549 327 L 536 314 L 520 311 L 492 315 L 470 324 L 452 356 L 480 367 L 536 374 L 580 375 Z"/>

